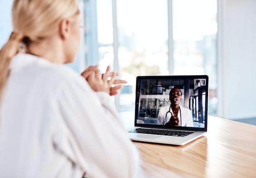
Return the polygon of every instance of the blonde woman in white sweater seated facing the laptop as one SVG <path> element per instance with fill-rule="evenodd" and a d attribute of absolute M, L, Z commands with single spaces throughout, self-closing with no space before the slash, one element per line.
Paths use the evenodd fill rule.
<path fill-rule="evenodd" d="M 133 177 L 137 151 L 110 98 L 120 81 L 109 67 L 82 78 L 61 65 L 80 43 L 76 0 L 14 0 L 12 22 L 0 51 L 0 178 Z"/>

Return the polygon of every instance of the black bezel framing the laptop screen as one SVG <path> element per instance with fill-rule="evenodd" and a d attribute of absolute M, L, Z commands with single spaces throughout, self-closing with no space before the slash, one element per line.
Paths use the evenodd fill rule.
<path fill-rule="evenodd" d="M 141 80 L 151 80 L 151 79 L 197 79 L 203 78 L 206 79 L 206 106 L 205 106 L 205 126 L 201 127 L 180 127 L 180 126 L 171 126 L 165 127 L 164 125 L 151 125 L 151 124 L 137 124 L 138 113 L 139 113 L 139 91 L 140 91 L 140 81 Z M 196 75 L 196 76 L 137 76 L 136 78 L 136 99 L 135 99 L 135 127 L 150 127 L 150 128 L 162 128 L 162 129 L 177 129 L 177 130 L 188 130 L 188 131 L 207 131 L 207 120 L 208 120 L 208 82 L 209 77 L 207 75 Z"/>

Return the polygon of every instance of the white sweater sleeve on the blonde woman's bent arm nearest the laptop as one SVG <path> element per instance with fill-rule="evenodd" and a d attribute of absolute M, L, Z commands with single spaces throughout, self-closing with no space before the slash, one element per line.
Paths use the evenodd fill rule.
<path fill-rule="evenodd" d="M 128 139 L 111 97 L 94 92 L 76 76 L 63 82 L 57 98 L 70 133 L 67 144 L 55 139 L 58 149 L 81 167 L 86 177 L 134 177 L 137 149 Z"/>

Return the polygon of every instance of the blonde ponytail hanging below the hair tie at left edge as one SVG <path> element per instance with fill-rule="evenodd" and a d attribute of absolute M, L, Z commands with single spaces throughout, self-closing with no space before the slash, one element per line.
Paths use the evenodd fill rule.
<path fill-rule="evenodd" d="M 0 96 L 7 81 L 10 60 L 20 51 L 22 39 L 22 33 L 12 32 L 9 40 L 0 50 Z"/>

